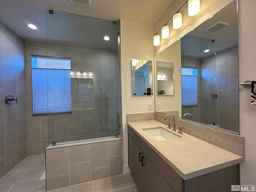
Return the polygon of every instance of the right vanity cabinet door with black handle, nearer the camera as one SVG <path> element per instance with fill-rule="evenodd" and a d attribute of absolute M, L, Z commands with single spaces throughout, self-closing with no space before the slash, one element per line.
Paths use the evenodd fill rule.
<path fill-rule="evenodd" d="M 152 162 L 143 155 L 143 190 L 144 192 L 175 192 Z M 140 191 L 141 192 L 141 191 Z"/>

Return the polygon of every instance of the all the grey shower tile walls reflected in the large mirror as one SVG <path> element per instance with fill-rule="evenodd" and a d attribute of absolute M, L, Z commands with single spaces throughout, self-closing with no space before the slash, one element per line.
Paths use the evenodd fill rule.
<path fill-rule="evenodd" d="M 199 107 L 182 108 L 182 115 L 189 112 L 192 114 L 192 120 L 201 119 L 198 122 L 205 124 L 215 122 L 221 125 L 221 128 L 238 132 L 238 46 L 216 53 L 216 58 L 214 55 L 200 61 L 182 58 L 182 66 L 198 67 L 201 71 L 200 77 L 198 76 Z M 218 94 L 216 99 L 211 97 L 214 92 Z"/>

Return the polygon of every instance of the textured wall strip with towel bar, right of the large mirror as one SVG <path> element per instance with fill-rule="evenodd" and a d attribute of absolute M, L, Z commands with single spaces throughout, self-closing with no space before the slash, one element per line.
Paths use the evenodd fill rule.
<path fill-rule="evenodd" d="M 256 80 L 256 1 L 238 0 L 239 82 Z M 250 88 L 239 87 L 240 135 L 245 137 L 245 162 L 240 166 L 242 185 L 256 185 L 256 105 Z"/>

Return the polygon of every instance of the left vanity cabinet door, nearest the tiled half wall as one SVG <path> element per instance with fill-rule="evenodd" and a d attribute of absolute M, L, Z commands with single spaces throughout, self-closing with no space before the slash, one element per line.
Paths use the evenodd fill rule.
<path fill-rule="evenodd" d="M 142 150 L 136 144 L 136 142 L 132 139 L 130 135 L 128 135 L 128 155 L 129 155 L 129 168 L 132 172 L 132 176 L 137 184 L 140 192 L 143 192 L 143 183 L 142 183 Z"/>

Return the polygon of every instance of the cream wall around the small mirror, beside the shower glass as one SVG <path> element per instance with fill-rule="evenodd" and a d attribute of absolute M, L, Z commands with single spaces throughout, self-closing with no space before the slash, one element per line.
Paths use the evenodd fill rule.
<path fill-rule="evenodd" d="M 132 59 L 153 60 L 153 25 L 120 20 L 120 28 L 124 173 L 127 173 L 129 169 L 126 114 L 149 112 L 149 103 L 153 104 L 152 111 L 155 110 L 154 92 L 151 96 L 132 96 Z"/>

